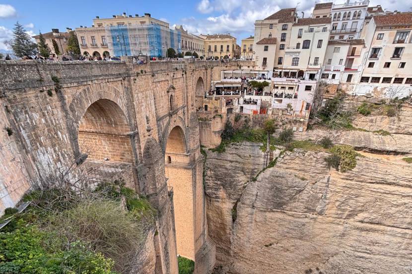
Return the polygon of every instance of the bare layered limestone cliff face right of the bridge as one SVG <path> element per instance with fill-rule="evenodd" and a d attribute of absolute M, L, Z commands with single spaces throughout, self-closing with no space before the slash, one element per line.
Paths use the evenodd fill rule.
<path fill-rule="evenodd" d="M 208 152 L 215 273 L 412 273 L 412 165 L 363 154 L 341 173 L 326 153 L 295 150 L 252 180 L 265 162 L 259 144 Z"/>

